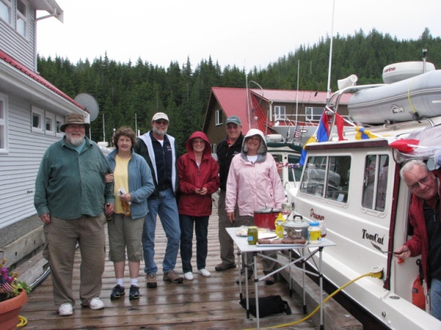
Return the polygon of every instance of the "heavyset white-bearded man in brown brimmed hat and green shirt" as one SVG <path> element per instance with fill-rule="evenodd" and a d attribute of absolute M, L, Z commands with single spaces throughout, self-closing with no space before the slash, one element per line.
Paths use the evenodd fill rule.
<path fill-rule="evenodd" d="M 60 129 L 65 136 L 41 159 L 35 181 L 34 206 L 44 223 L 54 303 L 60 316 L 73 314 L 72 270 L 80 245 L 81 305 L 102 309 L 105 261 L 104 225 L 113 212 L 113 182 L 105 183 L 110 166 L 95 142 L 85 137 L 90 124 L 81 113 L 68 113 Z"/>

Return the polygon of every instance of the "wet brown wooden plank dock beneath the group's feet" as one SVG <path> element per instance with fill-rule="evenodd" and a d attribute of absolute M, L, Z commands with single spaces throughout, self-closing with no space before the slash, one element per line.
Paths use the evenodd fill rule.
<path fill-rule="evenodd" d="M 236 284 L 238 269 L 216 272 L 214 266 L 220 263 L 218 243 L 218 217 L 216 212 L 209 219 L 209 246 L 207 270 L 212 276 L 205 278 L 194 274 L 194 281 L 174 284 L 162 280 L 162 259 L 165 252 L 166 238 L 158 220 L 156 228 L 156 256 L 158 264 L 158 287 L 145 287 L 143 262 L 139 272 L 141 298 L 129 300 L 128 270 L 126 267 L 126 295 L 118 300 L 110 300 L 114 287 L 114 270 L 111 261 L 106 259 L 103 274 L 101 299 L 106 308 L 93 311 L 81 307 L 79 301 L 79 265 L 81 257 L 76 252 L 74 270 L 74 294 L 76 305 L 72 316 L 61 317 L 57 313 L 52 296 L 50 276 L 36 287 L 29 295 L 28 303 L 21 310 L 21 316 L 28 320 L 23 329 L 252 329 L 256 327 L 256 318 L 247 319 L 246 312 L 239 305 L 239 288 Z M 196 249 L 194 238 L 194 250 Z M 195 254 L 195 252 L 194 252 Z M 192 260 L 196 272 L 195 258 Z M 260 263 L 261 266 L 261 263 Z M 178 256 L 176 271 L 182 274 L 181 258 Z M 262 268 L 260 267 L 260 271 Z M 274 314 L 260 319 L 260 327 L 275 327 L 302 319 L 302 300 L 298 294 L 289 297 L 289 287 L 285 279 L 274 285 L 258 283 L 259 296 L 280 295 L 287 300 L 292 314 Z M 250 296 L 254 296 L 254 285 L 250 286 Z M 319 329 L 313 321 L 307 320 L 284 329 Z M 326 329 L 326 327 L 325 327 Z M 334 328 L 333 328 L 334 329 Z"/>

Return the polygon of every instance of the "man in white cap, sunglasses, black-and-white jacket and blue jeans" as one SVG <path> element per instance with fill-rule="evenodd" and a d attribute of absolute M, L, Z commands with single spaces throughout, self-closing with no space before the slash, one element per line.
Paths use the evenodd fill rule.
<path fill-rule="evenodd" d="M 147 199 L 150 212 L 145 216 L 143 228 L 143 252 L 147 287 L 157 286 L 154 262 L 154 236 L 156 214 L 167 236 L 167 248 L 163 259 L 163 280 L 182 283 L 184 278 L 174 271 L 178 257 L 181 228 L 179 227 L 176 191 L 178 190 L 178 147 L 176 140 L 167 134 L 168 116 L 158 112 L 152 118 L 152 131 L 141 135 L 134 151 L 143 156 L 153 173 L 154 191 Z"/>

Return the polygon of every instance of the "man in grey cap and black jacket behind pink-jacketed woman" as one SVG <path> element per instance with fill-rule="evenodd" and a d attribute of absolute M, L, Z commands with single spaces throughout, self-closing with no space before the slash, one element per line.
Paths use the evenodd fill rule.
<path fill-rule="evenodd" d="M 234 243 L 227 232 L 227 228 L 234 227 L 234 222 L 230 222 L 225 210 L 225 191 L 227 190 L 227 177 L 229 166 L 235 155 L 240 153 L 243 144 L 242 122 L 237 115 L 230 115 L 225 121 L 227 137 L 220 142 L 216 149 L 219 163 L 220 192 L 218 199 L 218 217 L 219 217 L 219 243 L 220 243 L 220 264 L 214 269 L 218 272 L 229 270 L 236 267 L 234 262 Z M 236 217 L 238 209 L 236 206 Z"/>

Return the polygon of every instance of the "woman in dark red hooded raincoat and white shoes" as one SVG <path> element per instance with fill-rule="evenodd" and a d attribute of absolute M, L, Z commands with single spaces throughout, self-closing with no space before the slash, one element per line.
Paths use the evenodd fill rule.
<path fill-rule="evenodd" d="M 192 240 L 196 232 L 198 274 L 211 276 L 205 269 L 208 246 L 208 219 L 212 214 L 212 193 L 219 188 L 219 166 L 212 157 L 207 136 L 196 131 L 187 140 L 188 153 L 178 159 L 179 224 L 181 225 L 181 259 L 184 278 L 193 279 Z"/>

